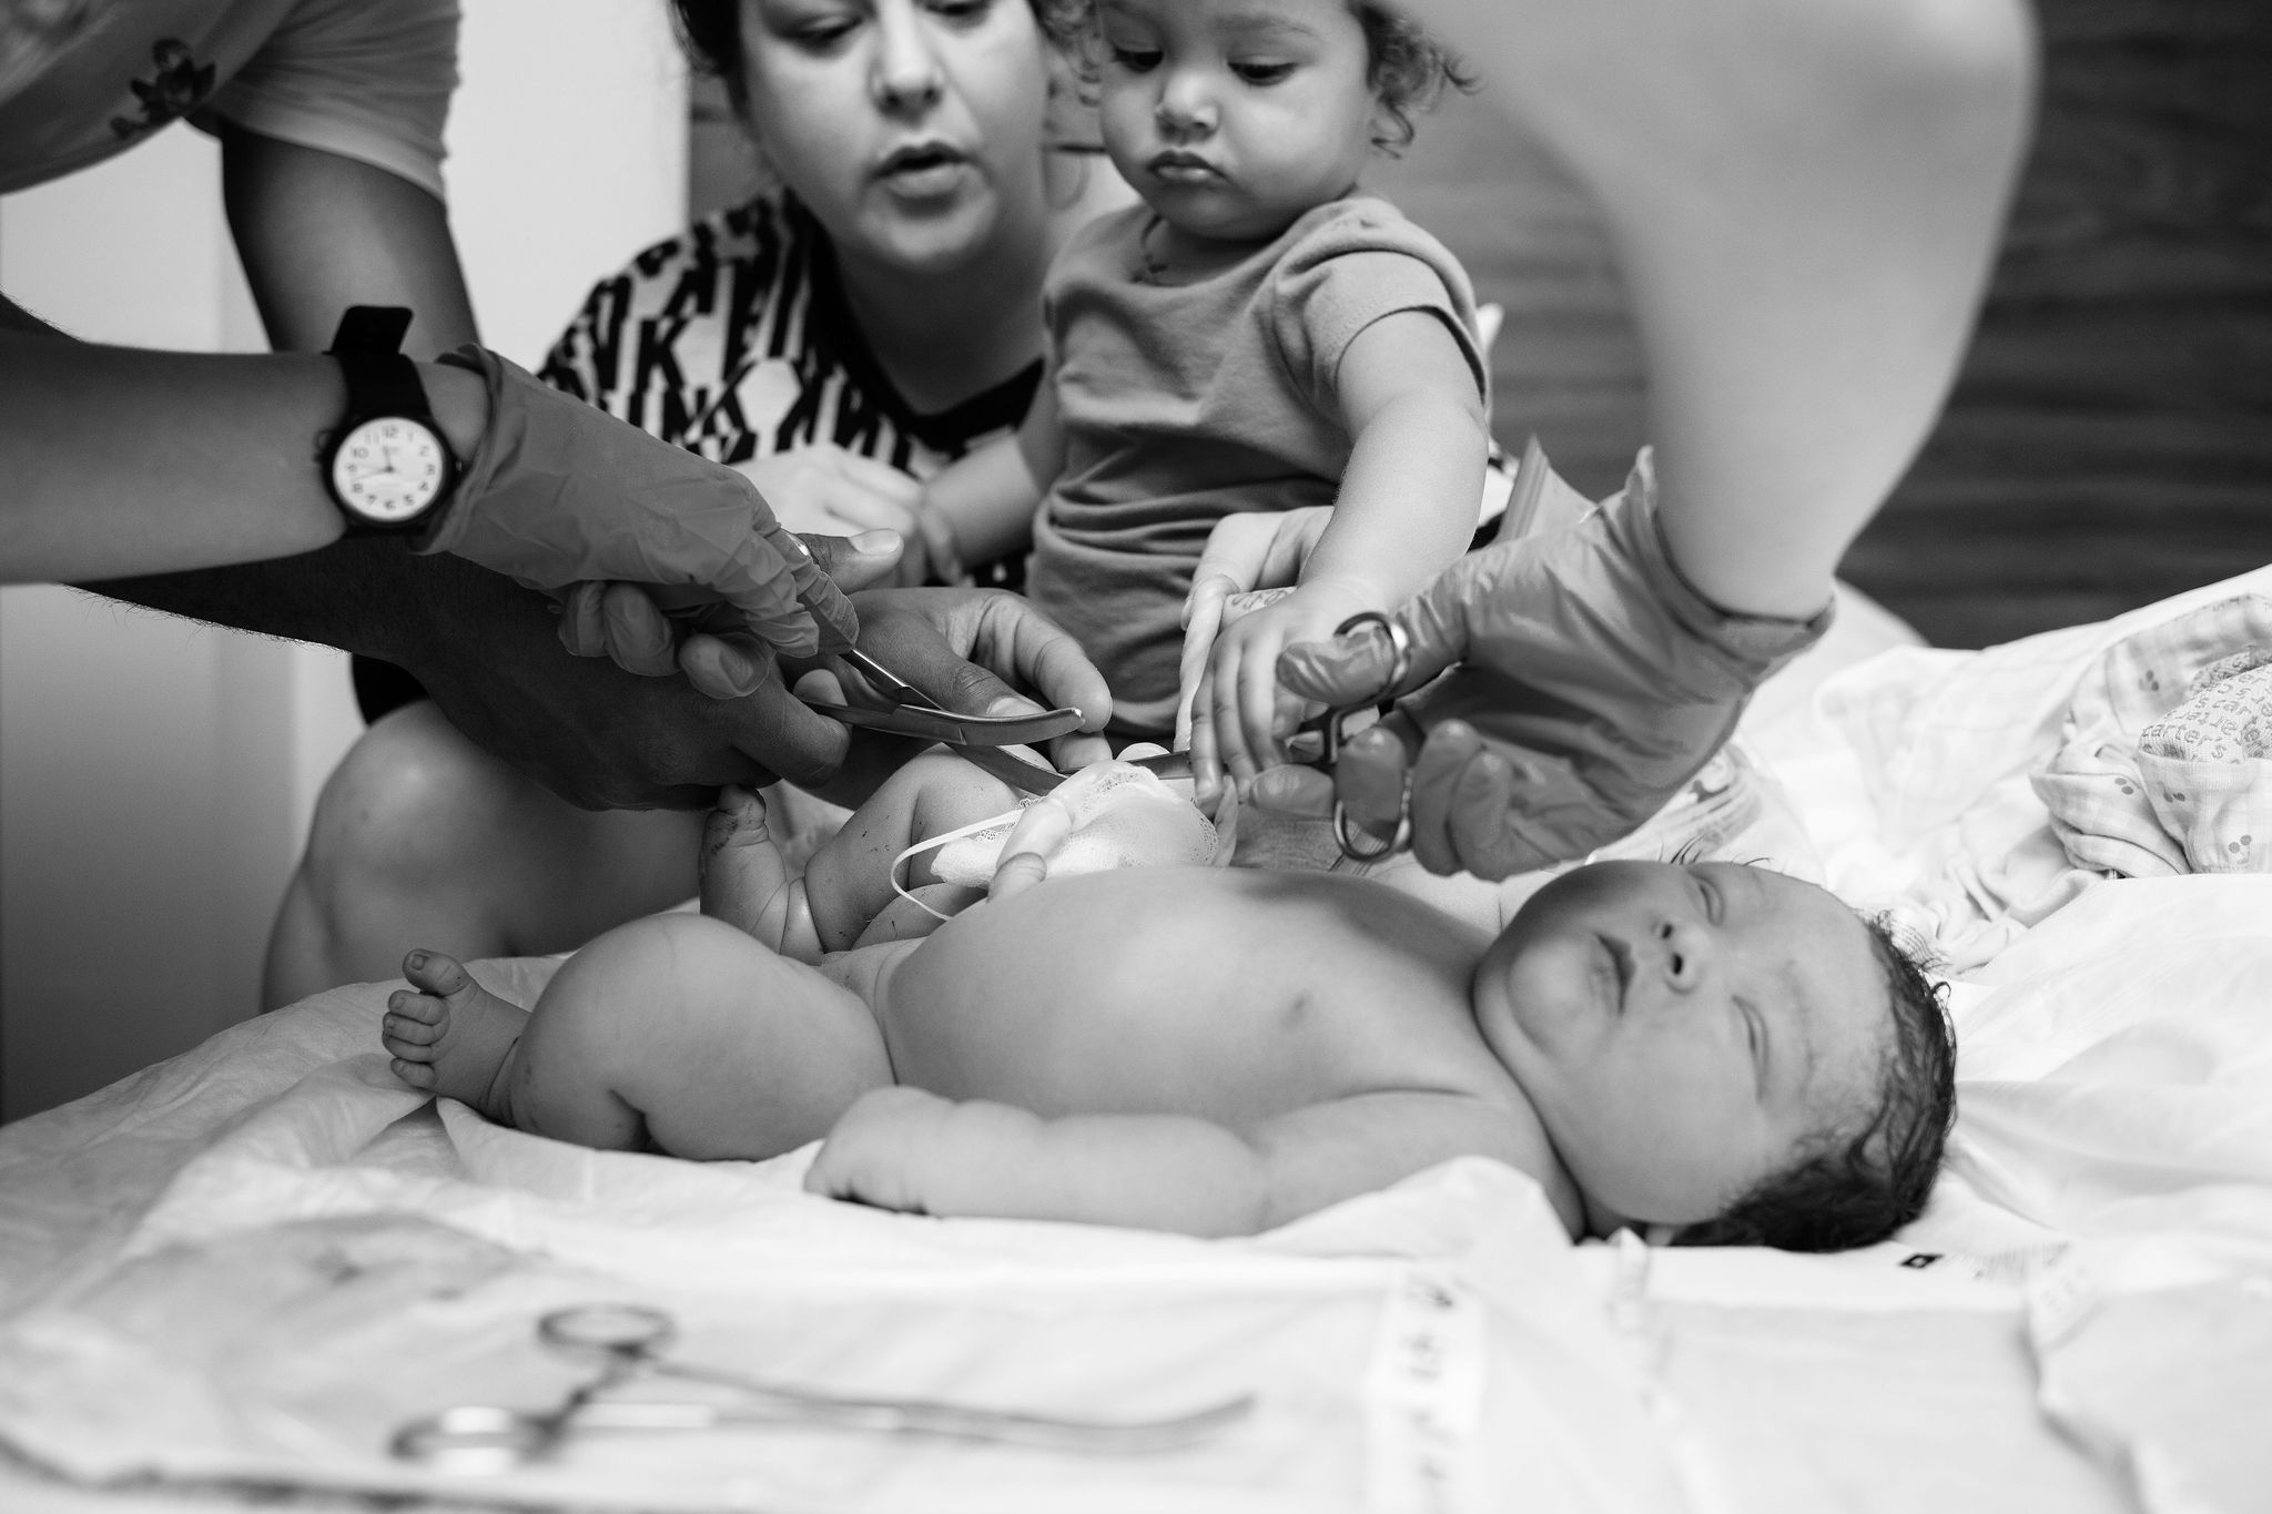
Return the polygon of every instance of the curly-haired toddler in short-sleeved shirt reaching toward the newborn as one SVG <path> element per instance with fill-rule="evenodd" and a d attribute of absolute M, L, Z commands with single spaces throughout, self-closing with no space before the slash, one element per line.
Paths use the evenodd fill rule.
<path fill-rule="evenodd" d="M 929 481 L 920 536 L 945 572 L 1031 540 L 1027 592 L 1104 670 L 1122 733 L 1175 731 L 1204 665 L 1245 715 L 1218 720 L 1225 756 L 1261 758 L 1277 649 L 1395 608 L 1475 531 L 1475 295 L 1436 238 L 1356 193 L 1409 111 L 1465 79 L 1370 0 L 1052 9 L 1143 202 L 1056 256 L 1050 381 L 1016 436 Z M 1211 527 L 1315 504 L 1334 518 L 1295 592 L 1181 672 Z"/>

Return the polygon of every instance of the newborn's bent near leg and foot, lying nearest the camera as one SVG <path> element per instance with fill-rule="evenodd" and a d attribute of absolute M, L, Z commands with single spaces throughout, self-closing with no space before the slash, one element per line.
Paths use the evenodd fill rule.
<path fill-rule="evenodd" d="M 436 1046 L 459 1008 L 491 1026 L 466 1042 L 468 1053 L 495 1058 L 479 1108 L 584 1146 L 770 1158 L 827 1135 L 859 1094 L 891 1083 L 884 1037 L 857 994 L 700 915 L 654 915 L 584 947 L 502 1053 L 493 1012 L 502 1001 L 450 992 L 445 974 L 423 976 L 423 987 L 443 992 L 409 996 L 411 1006 L 448 1010 L 448 1019 L 425 1015 L 443 1021 Z M 477 1062 L 463 1071 L 448 1080 L 482 1080 Z"/>

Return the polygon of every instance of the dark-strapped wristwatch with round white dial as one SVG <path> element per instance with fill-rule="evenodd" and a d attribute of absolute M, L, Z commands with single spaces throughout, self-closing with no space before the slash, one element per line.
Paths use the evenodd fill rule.
<path fill-rule="evenodd" d="M 320 443 L 323 483 L 348 536 L 400 536 L 429 524 L 457 483 L 457 456 L 427 409 L 418 365 L 402 356 L 411 313 L 357 304 L 329 354 L 348 377 L 348 413 Z"/>

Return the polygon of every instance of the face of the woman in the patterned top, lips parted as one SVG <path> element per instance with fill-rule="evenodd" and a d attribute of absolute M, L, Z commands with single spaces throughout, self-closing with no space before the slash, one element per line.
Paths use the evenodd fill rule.
<path fill-rule="evenodd" d="M 1045 236 L 1027 0 L 741 0 L 750 127 L 838 256 L 952 270 Z"/>

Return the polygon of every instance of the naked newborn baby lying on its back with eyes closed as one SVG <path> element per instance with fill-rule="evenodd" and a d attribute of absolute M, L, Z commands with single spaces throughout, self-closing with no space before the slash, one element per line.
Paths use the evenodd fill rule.
<path fill-rule="evenodd" d="M 886 785 L 813 858 L 822 944 L 893 899 L 879 858 L 1002 808 L 952 767 Z M 1918 969 L 1759 867 L 1579 867 L 1493 940 L 1343 874 L 1016 888 L 1013 858 L 977 908 L 877 906 L 816 965 L 747 928 L 804 933 L 754 797 L 713 822 L 704 869 L 707 915 L 598 937 L 534 1010 L 414 951 L 395 1071 L 588 1146 L 772 1158 L 825 1137 L 807 1187 L 882 1208 L 1193 1235 L 1486 1155 L 1538 1178 L 1572 1235 L 1858 1246 L 1918 1214 L 1952 1115 Z"/>

